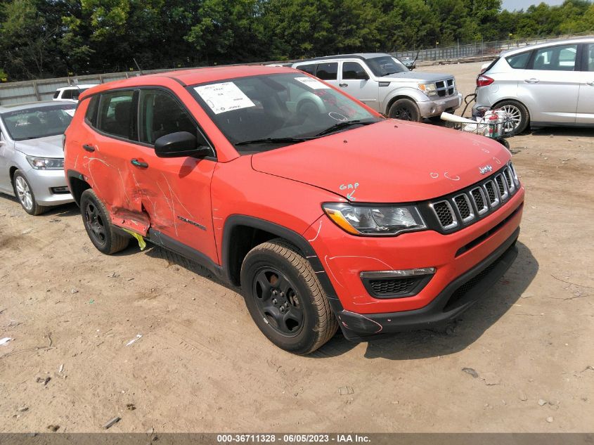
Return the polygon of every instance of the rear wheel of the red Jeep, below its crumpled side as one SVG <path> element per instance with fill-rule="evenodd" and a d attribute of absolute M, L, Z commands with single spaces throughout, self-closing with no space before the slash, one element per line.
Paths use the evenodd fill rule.
<path fill-rule="evenodd" d="M 108 210 L 91 188 L 80 196 L 80 212 L 86 234 L 99 252 L 110 255 L 128 247 L 130 238 L 115 231 Z"/>

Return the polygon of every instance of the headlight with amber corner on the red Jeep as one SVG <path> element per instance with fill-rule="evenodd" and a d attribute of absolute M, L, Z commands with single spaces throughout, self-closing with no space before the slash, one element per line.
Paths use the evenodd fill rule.
<path fill-rule="evenodd" d="M 396 236 L 427 226 L 413 205 L 351 205 L 326 202 L 324 212 L 342 230 L 353 235 Z"/>

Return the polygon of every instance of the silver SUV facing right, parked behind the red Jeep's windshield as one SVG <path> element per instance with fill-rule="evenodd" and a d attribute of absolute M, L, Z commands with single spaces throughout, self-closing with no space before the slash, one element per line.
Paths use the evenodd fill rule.
<path fill-rule="evenodd" d="M 340 87 L 389 117 L 419 121 L 452 112 L 462 103 L 452 75 L 412 72 L 385 53 L 300 60 L 292 67 Z"/>

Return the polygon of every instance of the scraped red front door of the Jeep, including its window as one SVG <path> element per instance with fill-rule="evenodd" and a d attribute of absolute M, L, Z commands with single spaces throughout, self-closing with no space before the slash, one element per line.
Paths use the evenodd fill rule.
<path fill-rule="evenodd" d="M 201 146 L 210 146 L 183 103 L 165 89 L 141 89 L 138 98 L 138 156 L 129 169 L 138 183 L 150 226 L 217 262 L 212 228 L 210 180 L 217 162 L 213 156 L 157 157 L 155 141 L 161 136 L 188 131 Z M 177 249 L 179 250 L 179 249 Z"/>

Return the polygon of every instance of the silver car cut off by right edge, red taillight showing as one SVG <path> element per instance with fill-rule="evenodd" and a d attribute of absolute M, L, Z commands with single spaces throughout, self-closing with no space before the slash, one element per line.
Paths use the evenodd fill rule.
<path fill-rule="evenodd" d="M 530 125 L 594 125 L 594 38 L 503 51 L 477 77 L 479 108 L 502 108 L 510 134 Z"/>

